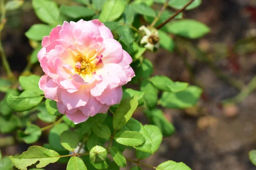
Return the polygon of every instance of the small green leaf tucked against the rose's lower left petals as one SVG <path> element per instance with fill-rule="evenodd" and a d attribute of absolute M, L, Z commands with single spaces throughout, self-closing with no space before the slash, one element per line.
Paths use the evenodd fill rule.
<path fill-rule="evenodd" d="M 39 111 L 39 113 L 37 114 L 38 119 L 40 119 L 41 121 L 47 122 L 47 123 L 52 123 L 55 122 L 57 116 L 52 116 L 48 113 L 47 109 L 45 108 L 45 104 L 44 102 L 41 102 L 36 108 L 35 110 Z"/>

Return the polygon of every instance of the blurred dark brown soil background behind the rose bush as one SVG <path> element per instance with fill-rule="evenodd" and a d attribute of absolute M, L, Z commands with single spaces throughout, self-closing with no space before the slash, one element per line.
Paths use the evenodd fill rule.
<path fill-rule="evenodd" d="M 7 17 L 2 42 L 18 76 L 32 52 L 24 33 L 41 21 L 29 0 Z M 193 170 L 256 170 L 248 158 L 248 152 L 256 148 L 256 0 L 203 0 L 198 8 L 185 11 L 183 18 L 198 20 L 211 32 L 199 40 L 173 37 L 177 41 L 174 52 L 146 52 L 145 58 L 154 64 L 154 75 L 198 85 L 204 93 L 194 108 L 164 110 L 176 133 L 165 137 L 159 151 L 145 162 L 157 165 L 166 160 L 183 161 Z M 39 65 L 34 65 L 32 71 L 43 74 Z M 5 77 L 2 65 L 0 76 Z M 140 110 L 134 118 L 148 123 Z M 47 131 L 44 133 L 37 145 L 47 142 Z M 28 146 L 17 143 L 0 147 L 3 154 L 14 155 Z M 124 154 L 135 155 L 131 150 Z M 47 167 L 65 168 L 61 164 Z"/>

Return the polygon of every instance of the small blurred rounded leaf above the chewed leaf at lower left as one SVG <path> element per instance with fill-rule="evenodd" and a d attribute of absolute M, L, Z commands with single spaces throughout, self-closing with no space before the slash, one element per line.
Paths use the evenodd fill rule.
<path fill-rule="evenodd" d="M 17 131 L 18 137 L 27 144 L 37 142 L 41 134 L 41 128 L 37 125 L 28 125 L 24 132 L 21 130 Z"/>

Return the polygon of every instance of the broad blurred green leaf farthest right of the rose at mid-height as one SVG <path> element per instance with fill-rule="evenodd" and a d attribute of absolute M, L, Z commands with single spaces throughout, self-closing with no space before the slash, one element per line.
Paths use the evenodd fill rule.
<path fill-rule="evenodd" d="M 184 109 L 194 106 L 202 94 L 202 89 L 189 86 L 183 91 L 173 93 L 164 91 L 159 103 L 166 108 Z"/>

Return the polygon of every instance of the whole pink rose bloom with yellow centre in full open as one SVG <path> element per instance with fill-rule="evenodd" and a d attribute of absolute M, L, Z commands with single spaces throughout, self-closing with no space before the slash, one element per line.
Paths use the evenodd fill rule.
<path fill-rule="evenodd" d="M 75 124 L 106 113 L 131 81 L 131 56 L 99 20 L 64 21 L 43 38 L 39 87 Z"/>

